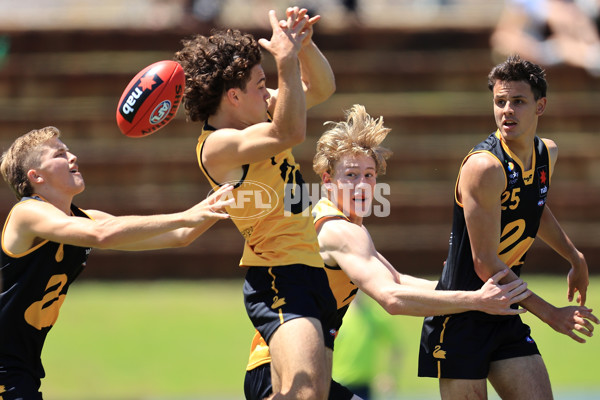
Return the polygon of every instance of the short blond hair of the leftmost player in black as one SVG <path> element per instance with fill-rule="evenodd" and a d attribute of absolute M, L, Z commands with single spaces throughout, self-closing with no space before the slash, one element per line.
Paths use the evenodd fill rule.
<path fill-rule="evenodd" d="M 2 154 L 0 171 L 6 183 L 15 192 L 17 199 L 33 194 L 27 171 L 37 166 L 41 146 L 54 137 L 60 137 L 58 128 L 47 126 L 34 129 L 18 137 Z"/>

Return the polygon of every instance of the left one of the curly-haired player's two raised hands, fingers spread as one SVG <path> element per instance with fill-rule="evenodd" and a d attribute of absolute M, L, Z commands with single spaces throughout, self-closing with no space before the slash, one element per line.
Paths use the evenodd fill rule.
<path fill-rule="evenodd" d="M 273 29 L 273 34 L 270 40 L 259 39 L 258 43 L 268 50 L 277 62 L 295 57 L 302 46 L 304 39 L 312 30 L 306 29 L 308 16 L 304 12 L 303 18 L 300 18 L 300 10 L 295 7 L 292 14 L 288 16 L 285 24 L 280 24 L 277 20 L 275 11 L 269 11 L 269 22 Z"/>

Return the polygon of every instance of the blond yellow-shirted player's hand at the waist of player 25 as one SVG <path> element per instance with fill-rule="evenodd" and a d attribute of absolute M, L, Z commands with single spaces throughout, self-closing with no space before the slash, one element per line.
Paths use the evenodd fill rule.
<path fill-rule="evenodd" d="M 497 315 L 515 315 L 525 313 L 524 308 L 510 308 L 512 304 L 519 303 L 531 295 L 527 283 L 516 279 L 507 284 L 500 284 L 502 278 L 508 273 L 506 268 L 489 278 L 477 292 L 480 295 L 479 311 Z"/>

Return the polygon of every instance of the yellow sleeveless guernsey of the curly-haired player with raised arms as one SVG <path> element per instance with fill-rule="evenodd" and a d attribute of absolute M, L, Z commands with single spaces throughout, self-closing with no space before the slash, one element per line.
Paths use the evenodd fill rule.
<path fill-rule="evenodd" d="M 244 165 L 239 181 L 217 182 L 202 163 L 204 143 L 214 131 L 204 125 L 196 154 L 213 189 L 225 183 L 234 186 L 234 204 L 227 212 L 245 239 L 240 266 L 304 264 L 322 268 L 308 188 L 291 149 Z"/>

